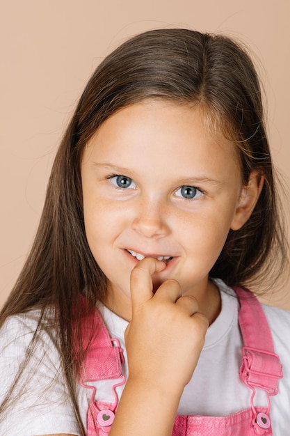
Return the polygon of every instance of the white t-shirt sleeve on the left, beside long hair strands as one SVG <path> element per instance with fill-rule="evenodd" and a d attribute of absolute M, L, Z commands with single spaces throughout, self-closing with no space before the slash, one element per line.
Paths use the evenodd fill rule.
<path fill-rule="evenodd" d="M 0 331 L 0 404 L 25 359 L 37 323 L 33 313 L 14 316 Z M 45 329 L 39 335 L 12 402 L 1 413 L 0 435 L 67 433 L 79 436 L 54 337 Z"/>

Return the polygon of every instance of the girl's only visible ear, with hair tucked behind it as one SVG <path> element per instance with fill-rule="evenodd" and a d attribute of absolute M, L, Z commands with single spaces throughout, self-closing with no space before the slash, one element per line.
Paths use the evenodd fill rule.
<path fill-rule="evenodd" d="M 241 196 L 232 220 L 232 230 L 239 230 L 248 221 L 261 194 L 263 185 L 264 176 L 256 171 L 250 173 L 248 185 L 241 189 Z"/>

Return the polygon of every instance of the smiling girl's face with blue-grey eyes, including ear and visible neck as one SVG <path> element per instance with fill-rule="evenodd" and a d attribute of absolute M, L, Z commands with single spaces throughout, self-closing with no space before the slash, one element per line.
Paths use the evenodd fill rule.
<path fill-rule="evenodd" d="M 176 279 L 200 306 L 229 228 L 250 215 L 234 145 L 202 112 L 162 100 L 121 109 L 89 141 L 81 164 L 86 237 L 108 279 L 106 304 L 131 319 L 131 270 L 166 260 L 154 288 Z"/>

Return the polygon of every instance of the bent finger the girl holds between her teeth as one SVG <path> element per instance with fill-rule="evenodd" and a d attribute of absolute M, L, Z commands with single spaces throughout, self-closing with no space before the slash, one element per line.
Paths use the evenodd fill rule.
<path fill-rule="evenodd" d="M 152 275 L 161 272 L 166 267 L 164 262 L 155 258 L 145 258 L 140 260 L 131 272 L 130 287 L 132 310 L 139 304 L 152 298 Z"/>

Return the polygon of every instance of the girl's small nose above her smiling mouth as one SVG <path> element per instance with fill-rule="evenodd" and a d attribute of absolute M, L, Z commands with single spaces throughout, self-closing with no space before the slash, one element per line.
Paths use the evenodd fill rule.
<path fill-rule="evenodd" d="M 163 238 L 169 233 L 168 207 L 162 201 L 143 199 L 134 212 L 132 228 L 145 238 Z"/>

